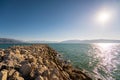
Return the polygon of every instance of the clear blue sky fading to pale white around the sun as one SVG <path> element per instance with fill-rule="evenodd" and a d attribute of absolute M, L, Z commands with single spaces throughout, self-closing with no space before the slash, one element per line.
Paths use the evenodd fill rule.
<path fill-rule="evenodd" d="M 99 13 L 110 15 L 107 22 Z M 19 40 L 120 39 L 120 0 L 0 0 L 0 37 Z M 102 23 L 104 22 L 104 24 Z"/>

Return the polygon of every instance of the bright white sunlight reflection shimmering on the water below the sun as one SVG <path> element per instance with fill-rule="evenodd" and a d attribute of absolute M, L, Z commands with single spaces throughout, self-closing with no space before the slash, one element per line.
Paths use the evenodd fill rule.
<path fill-rule="evenodd" d="M 94 57 L 99 59 L 93 72 L 99 77 L 106 75 L 107 77 L 103 77 L 103 80 L 115 80 L 111 73 L 117 69 L 117 63 L 119 63 L 116 60 L 117 45 L 115 43 L 95 43 L 92 45 L 95 50 Z"/>

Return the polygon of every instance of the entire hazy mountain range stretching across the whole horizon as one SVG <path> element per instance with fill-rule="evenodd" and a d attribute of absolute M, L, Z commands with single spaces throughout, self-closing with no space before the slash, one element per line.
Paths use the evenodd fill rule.
<path fill-rule="evenodd" d="M 19 43 L 120 43 L 120 40 L 95 39 L 95 40 L 65 40 L 57 41 L 20 41 L 9 38 L 0 38 L 0 44 L 19 44 Z"/>

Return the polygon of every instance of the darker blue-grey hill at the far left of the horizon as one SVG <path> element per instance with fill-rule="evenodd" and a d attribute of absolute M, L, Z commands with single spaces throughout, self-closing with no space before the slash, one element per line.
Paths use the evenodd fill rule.
<path fill-rule="evenodd" d="M 18 44 L 18 43 L 24 43 L 24 42 L 15 39 L 0 38 L 0 44 Z"/>

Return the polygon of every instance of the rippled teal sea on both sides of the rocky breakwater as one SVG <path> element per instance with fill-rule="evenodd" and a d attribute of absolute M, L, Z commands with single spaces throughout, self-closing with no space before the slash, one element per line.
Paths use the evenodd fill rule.
<path fill-rule="evenodd" d="M 0 44 L 0 48 L 14 45 Z M 65 60 L 90 75 L 93 80 L 120 80 L 120 43 L 49 43 Z"/>

